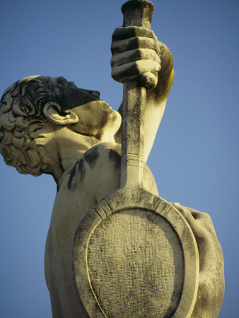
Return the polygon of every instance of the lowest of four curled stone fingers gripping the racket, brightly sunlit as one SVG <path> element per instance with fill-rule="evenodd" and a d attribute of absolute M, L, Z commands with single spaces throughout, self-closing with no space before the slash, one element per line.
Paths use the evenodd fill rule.
<path fill-rule="evenodd" d="M 122 64 L 112 68 L 111 76 L 115 81 L 122 81 L 127 79 L 134 79 L 139 77 L 142 73 L 159 71 L 160 65 L 156 61 L 141 60 L 133 61 L 127 64 Z"/>

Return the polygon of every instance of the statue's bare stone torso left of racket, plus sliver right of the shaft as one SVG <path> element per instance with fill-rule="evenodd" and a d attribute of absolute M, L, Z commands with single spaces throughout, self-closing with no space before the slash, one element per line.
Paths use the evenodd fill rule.
<path fill-rule="evenodd" d="M 79 317 L 85 314 L 78 302 L 72 271 L 74 236 L 88 211 L 120 187 L 120 151 L 117 143 L 101 143 L 86 151 L 63 176 L 57 193 L 45 250 L 45 276 L 52 301 L 53 317 Z M 156 184 L 148 167 L 145 180 Z M 61 305 L 59 305 L 61 304 Z"/>

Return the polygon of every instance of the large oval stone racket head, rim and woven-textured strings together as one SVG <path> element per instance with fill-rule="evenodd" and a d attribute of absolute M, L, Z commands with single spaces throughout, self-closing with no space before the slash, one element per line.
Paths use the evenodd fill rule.
<path fill-rule="evenodd" d="M 74 252 L 91 317 L 190 317 L 199 274 L 194 236 L 151 192 L 124 187 L 101 201 L 79 226 Z"/>

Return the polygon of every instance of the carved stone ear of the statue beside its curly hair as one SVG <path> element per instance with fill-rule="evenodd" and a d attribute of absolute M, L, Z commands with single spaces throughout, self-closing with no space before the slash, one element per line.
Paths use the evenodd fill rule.
<path fill-rule="evenodd" d="M 47 102 L 43 107 L 43 114 L 45 114 L 45 117 L 54 124 L 65 126 L 78 122 L 78 116 L 74 112 L 68 110 L 65 115 L 62 115 L 61 113 L 62 109 L 57 102 Z"/>

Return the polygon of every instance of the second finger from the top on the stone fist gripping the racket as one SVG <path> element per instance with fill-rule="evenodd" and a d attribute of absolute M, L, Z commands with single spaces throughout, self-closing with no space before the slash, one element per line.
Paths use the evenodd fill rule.
<path fill-rule="evenodd" d="M 127 40 L 114 41 L 111 45 L 112 54 L 132 49 L 154 49 L 157 52 L 156 41 L 149 37 L 132 37 Z"/>

